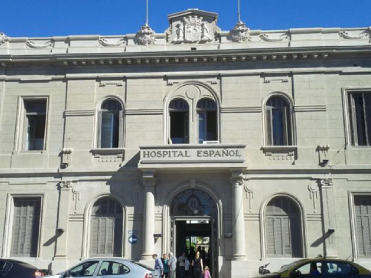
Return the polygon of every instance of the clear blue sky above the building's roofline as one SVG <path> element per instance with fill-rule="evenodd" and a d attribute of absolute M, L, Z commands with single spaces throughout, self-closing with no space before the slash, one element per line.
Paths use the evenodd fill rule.
<path fill-rule="evenodd" d="M 237 0 L 150 0 L 150 26 L 161 33 L 170 13 L 198 8 L 219 13 L 218 25 L 237 21 Z M 371 0 L 241 0 L 250 29 L 371 26 Z M 135 33 L 145 22 L 145 0 L 1 0 L 0 32 L 14 36 Z"/>

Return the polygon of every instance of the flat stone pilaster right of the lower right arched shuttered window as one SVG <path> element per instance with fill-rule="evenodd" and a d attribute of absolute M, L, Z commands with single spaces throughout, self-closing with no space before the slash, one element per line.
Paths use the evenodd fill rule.
<path fill-rule="evenodd" d="M 325 237 L 325 256 L 326 258 L 338 258 L 336 246 L 336 213 L 334 190 L 332 187 L 332 179 L 327 178 L 319 180 L 319 187 L 321 189 L 321 205 L 322 217 Z"/>

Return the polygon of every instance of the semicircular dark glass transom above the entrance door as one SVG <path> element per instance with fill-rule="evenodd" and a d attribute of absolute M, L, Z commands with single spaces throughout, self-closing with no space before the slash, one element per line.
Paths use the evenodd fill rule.
<path fill-rule="evenodd" d="M 216 206 L 209 194 L 186 190 L 175 197 L 170 213 L 171 216 L 216 216 Z"/>

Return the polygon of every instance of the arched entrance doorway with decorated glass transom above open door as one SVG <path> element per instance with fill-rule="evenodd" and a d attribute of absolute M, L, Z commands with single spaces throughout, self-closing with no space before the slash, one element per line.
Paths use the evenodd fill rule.
<path fill-rule="evenodd" d="M 211 196 L 198 189 L 179 193 L 170 205 L 171 244 L 175 256 L 185 252 L 188 259 L 201 250 L 204 266 L 208 265 L 211 276 L 218 276 L 217 206 Z"/>

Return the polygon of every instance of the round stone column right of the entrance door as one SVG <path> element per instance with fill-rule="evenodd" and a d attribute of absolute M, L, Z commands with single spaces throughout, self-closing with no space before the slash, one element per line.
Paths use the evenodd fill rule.
<path fill-rule="evenodd" d="M 243 212 L 243 176 L 242 173 L 232 173 L 232 196 L 233 196 L 233 217 L 232 217 L 232 261 L 244 261 L 245 250 L 245 224 Z"/>

